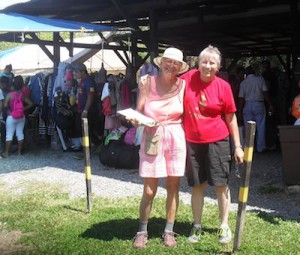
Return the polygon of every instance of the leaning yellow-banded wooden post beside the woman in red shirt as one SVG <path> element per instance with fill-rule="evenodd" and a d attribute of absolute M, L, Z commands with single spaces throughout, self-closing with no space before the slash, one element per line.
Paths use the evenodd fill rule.
<path fill-rule="evenodd" d="M 249 194 L 250 172 L 252 166 L 255 129 L 256 123 L 254 121 L 248 121 L 246 125 L 244 164 L 242 170 L 241 186 L 239 191 L 239 206 L 234 234 L 234 252 L 239 249 L 242 242 L 243 229 L 245 224 L 246 204 Z"/>

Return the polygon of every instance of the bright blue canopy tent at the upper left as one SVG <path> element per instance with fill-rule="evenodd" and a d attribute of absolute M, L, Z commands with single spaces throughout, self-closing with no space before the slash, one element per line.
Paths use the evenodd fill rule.
<path fill-rule="evenodd" d="M 73 32 L 99 33 L 103 31 L 115 30 L 112 26 L 95 25 L 85 22 L 69 21 L 61 19 L 49 19 L 19 13 L 0 13 L 0 32 L 22 33 L 21 41 L 24 43 L 36 43 L 53 61 L 54 67 L 60 62 L 60 46 L 69 49 L 69 55 L 73 55 Z M 53 32 L 53 54 L 47 49 L 46 43 L 40 40 L 36 32 Z M 70 42 L 66 43 L 59 36 L 59 32 L 70 32 Z M 32 39 L 27 39 L 25 34 Z M 1 41 L 1 38 L 0 38 Z M 92 45 L 91 45 L 92 47 Z"/>

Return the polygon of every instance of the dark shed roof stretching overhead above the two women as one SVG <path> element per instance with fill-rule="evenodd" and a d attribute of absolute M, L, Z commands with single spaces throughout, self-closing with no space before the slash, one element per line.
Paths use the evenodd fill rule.
<path fill-rule="evenodd" d="M 157 42 L 188 55 L 208 44 L 228 58 L 296 55 L 300 49 L 300 0 L 32 0 L 5 11 L 131 27 L 147 47 Z"/>

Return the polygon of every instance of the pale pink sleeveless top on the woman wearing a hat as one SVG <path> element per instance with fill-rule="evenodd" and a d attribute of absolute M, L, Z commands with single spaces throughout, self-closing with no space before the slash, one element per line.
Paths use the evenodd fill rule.
<path fill-rule="evenodd" d="M 183 80 L 178 78 L 177 93 L 167 96 L 159 96 L 156 91 L 156 76 L 151 76 L 150 92 L 144 106 L 144 114 L 158 123 L 175 124 L 182 123 L 183 114 Z"/>

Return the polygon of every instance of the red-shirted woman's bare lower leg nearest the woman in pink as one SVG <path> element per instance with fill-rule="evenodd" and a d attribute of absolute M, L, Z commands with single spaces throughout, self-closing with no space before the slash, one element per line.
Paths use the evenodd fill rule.
<path fill-rule="evenodd" d="M 194 217 L 194 224 L 201 224 L 202 212 L 204 206 L 204 191 L 207 187 L 207 183 L 202 183 L 195 187 L 192 187 L 192 211 Z"/>

